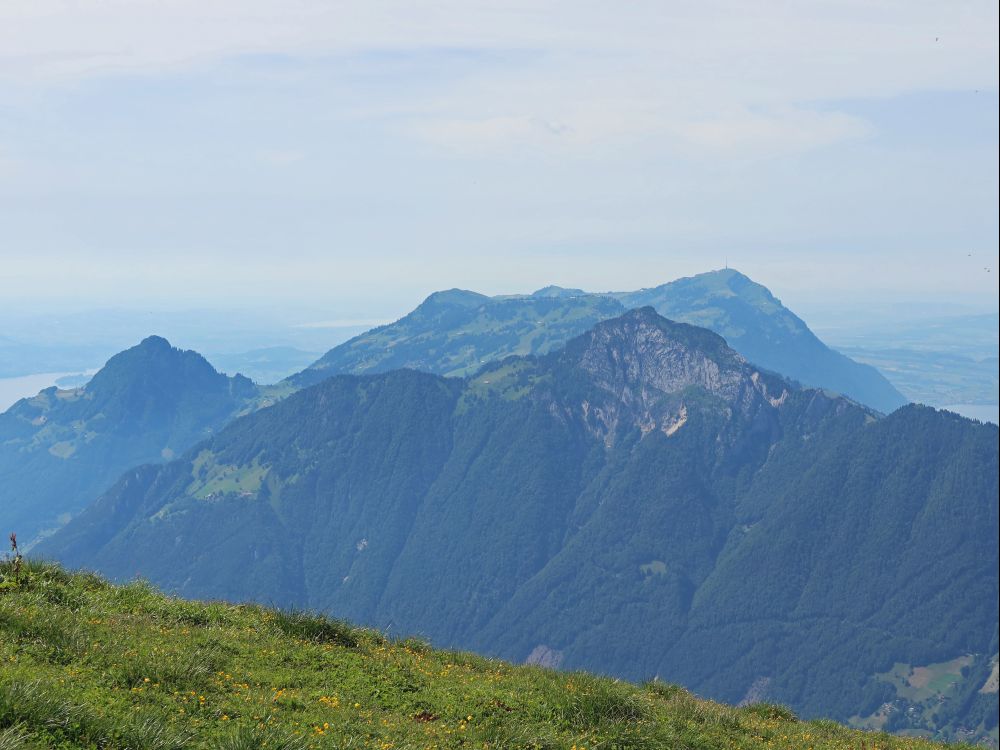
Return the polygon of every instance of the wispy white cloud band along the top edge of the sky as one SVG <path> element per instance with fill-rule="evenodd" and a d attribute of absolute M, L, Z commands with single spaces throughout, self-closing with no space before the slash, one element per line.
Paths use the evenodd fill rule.
<path fill-rule="evenodd" d="M 995 59 L 983 63 L 996 19 L 983 0 L 6 0 L 0 60 L 7 74 L 71 76 L 247 53 L 543 49 L 826 96 L 995 86 Z"/>

